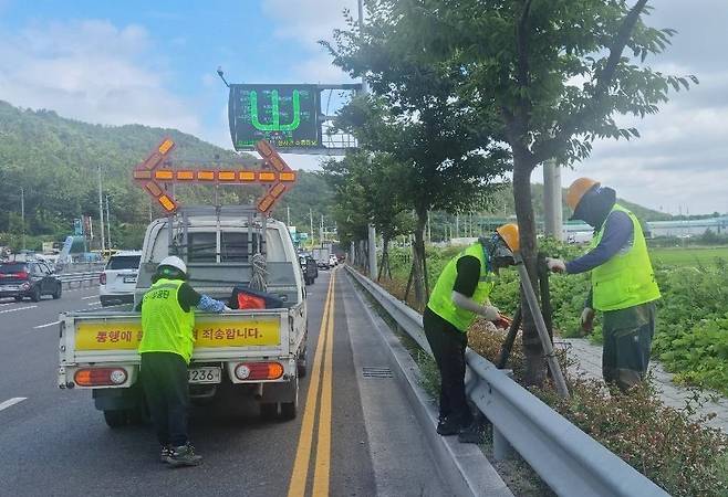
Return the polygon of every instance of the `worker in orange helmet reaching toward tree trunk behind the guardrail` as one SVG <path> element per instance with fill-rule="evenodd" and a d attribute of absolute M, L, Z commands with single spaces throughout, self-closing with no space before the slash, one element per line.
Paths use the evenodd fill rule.
<path fill-rule="evenodd" d="M 571 219 L 594 228 L 590 251 L 570 262 L 548 258 L 558 273 L 591 272 L 592 289 L 581 324 L 593 329 L 594 310 L 604 313 L 602 374 L 626 392 L 639 383 L 649 364 L 659 288 L 637 218 L 616 203 L 616 193 L 590 178 L 575 180 L 566 193 Z"/>

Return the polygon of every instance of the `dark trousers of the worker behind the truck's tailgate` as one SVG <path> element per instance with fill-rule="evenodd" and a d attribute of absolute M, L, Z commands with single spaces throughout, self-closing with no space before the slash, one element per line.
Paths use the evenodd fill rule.
<path fill-rule="evenodd" d="M 159 443 L 185 445 L 189 409 L 185 360 L 170 352 L 144 352 L 139 378 Z"/>

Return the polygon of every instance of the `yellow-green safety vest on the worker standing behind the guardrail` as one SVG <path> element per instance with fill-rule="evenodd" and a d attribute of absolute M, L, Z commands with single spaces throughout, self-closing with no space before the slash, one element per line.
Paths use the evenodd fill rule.
<path fill-rule="evenodd" d="M 632 220 L 634 240 L 631 247 L 621 250 L 606 263 L 592 269 L 593 306 L 597 310 L 626 309 L 659 298 L 639 221 L 616 203 L 610 215 L 615 211 L 624 212 Z M 601 242 L 605 225 L 606 220 L 592 241 L 592 248 Z"/>

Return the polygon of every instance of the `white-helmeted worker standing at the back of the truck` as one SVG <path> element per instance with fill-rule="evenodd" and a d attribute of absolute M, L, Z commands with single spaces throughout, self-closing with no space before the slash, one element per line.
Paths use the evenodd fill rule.
<path fill-rule="evenodd" d="M 162 445 L 160 459 L 171 466 L 196 466 L 187 437 L 189 390 L 187 366 L 193 356 L 195 314 L 229 310 L 225 303 L 200 295 L 185 282 L 187 266 L 177 256 L 165 257 L 152 287 L 137 306 L 142 310 L 139 379 Z"/>

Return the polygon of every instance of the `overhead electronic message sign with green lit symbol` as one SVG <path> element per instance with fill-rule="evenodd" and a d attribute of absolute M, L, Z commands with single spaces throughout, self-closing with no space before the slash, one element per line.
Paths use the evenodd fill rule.
<path fill-rule="evenodd" d="M 315 85 L 230 85 L 228 116 L 236 150 L 268 140 L 279 149 L 321 148 Z"/>

